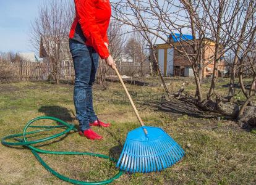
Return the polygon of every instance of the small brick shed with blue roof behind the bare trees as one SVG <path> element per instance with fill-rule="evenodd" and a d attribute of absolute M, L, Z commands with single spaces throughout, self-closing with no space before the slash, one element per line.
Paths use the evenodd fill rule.
<path fill-rule="evenodd" d="M 155 45 L 158 65 L 163 76 L 194 76 L 187 56 L 177 51 L 183 47 L 187 53 L 192 53 L 192 39 L 192 35 L 174 34 L 169 36 L 168 42 L 177 49 L 170 46 L 169 43 Z M 205 39 L 203 45 L 203 65 L 205 65 L 203 77 L 206 77 L 211 76 L 213 73 L 215 43 L 210 39 Z M 224 69 L 224 60 L 221 57 L 218 70 L 220 73 L 224 73 Z"/>

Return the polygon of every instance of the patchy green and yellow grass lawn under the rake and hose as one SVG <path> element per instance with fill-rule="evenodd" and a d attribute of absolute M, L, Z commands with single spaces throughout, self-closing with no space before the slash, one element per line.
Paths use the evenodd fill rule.
<path fill-rule="evenodd" d="M 189 81 L 186 93 L 194 94 L 194 81 Z M 159 83 L 158 80 L 147 80 Z M 168 78 L 170 91 L 177 91 L 184 78 Z M 217 94 L 226 94 L 227 79 L 220 79 Z M 207 86 L 203 85 L 203 93 Z M 256 184 L 256 132 L 239 128 L 232 120 L 217 121 L 163 111 L 159 104 L 164 96 L 163 88 L 135 86 L 127 88 L 134 97 L 146 125 L 160 126 L 186 151 L 186 156 L 171 168 L 158 173 L 124 174 L 113 184 Z M 0 138 L 7 134 L 22 132 L 23 126 L 32 118 L 49 115 L 78 125 L 75 120 L 73 86 L 56 86 L 46 82 L 0 84 Z M 237 99 L 244 99 L 239 93 Z M 104 136 L 102 141 L 89 141 L 71 132 L 65 138 L 46 142 L 41 149 L 95 152 L 118 156 L 130 130 L 139 127 L 132 107 L 119 83 L 104 90 L 94 89 L 94 105 L 98 117 L 112 123 L 110 128 L 93 128 Z M 189 107 L 188 107 L 189 108 Z M 50 124 L 40 121 L 38 124 Z M 60 130 L 52 131 L 52 133 Z M 43 138 L 50 133 L 35 135 Z M 58 141 L 58 142 L 55 142 Z M 0 145 L 0 184 L 68 184 L 51 175 L 35 159 L 28 149 Z M 54 170 L 83 181 L 99 181 L 117 173 L 114 163 L 96 157 L 41 155 Z"/>

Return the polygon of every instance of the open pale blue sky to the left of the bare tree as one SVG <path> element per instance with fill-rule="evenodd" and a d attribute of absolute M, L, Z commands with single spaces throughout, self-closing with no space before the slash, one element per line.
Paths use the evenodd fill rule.
<path fill-rule="evenodd" d="M 32 52 L 29 31 L 45 0 L 0 0 L 0 51 Z M 46 0 L 52 1 L 52 0 Z"/>

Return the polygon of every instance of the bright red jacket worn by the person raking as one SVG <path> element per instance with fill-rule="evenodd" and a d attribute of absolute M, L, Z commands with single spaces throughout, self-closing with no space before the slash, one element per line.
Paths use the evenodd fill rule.
<path fill-rule="evenodd" d="M 109 56 L 107 30 L 111 17 L 109 0 L 75 0 L 75 20 L 70 39 L 92 46 L 101 59 Z"/>

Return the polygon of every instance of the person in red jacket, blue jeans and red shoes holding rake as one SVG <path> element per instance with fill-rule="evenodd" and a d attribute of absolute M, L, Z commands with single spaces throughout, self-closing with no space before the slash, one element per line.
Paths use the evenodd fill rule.
<path fill-rule="evenodd" d="M 69 34 L 69 48 L 75 69 L 74 104 L 79 120 L 79 134 L 88 139 L 102 139 L 90 126 L 108 127 L 93 110 L 92 86 L 99 56 L 114 68 L 108 50 L 107 30 L 111 17 L 109 0 L 75 0 L 75 19 Z"/>

